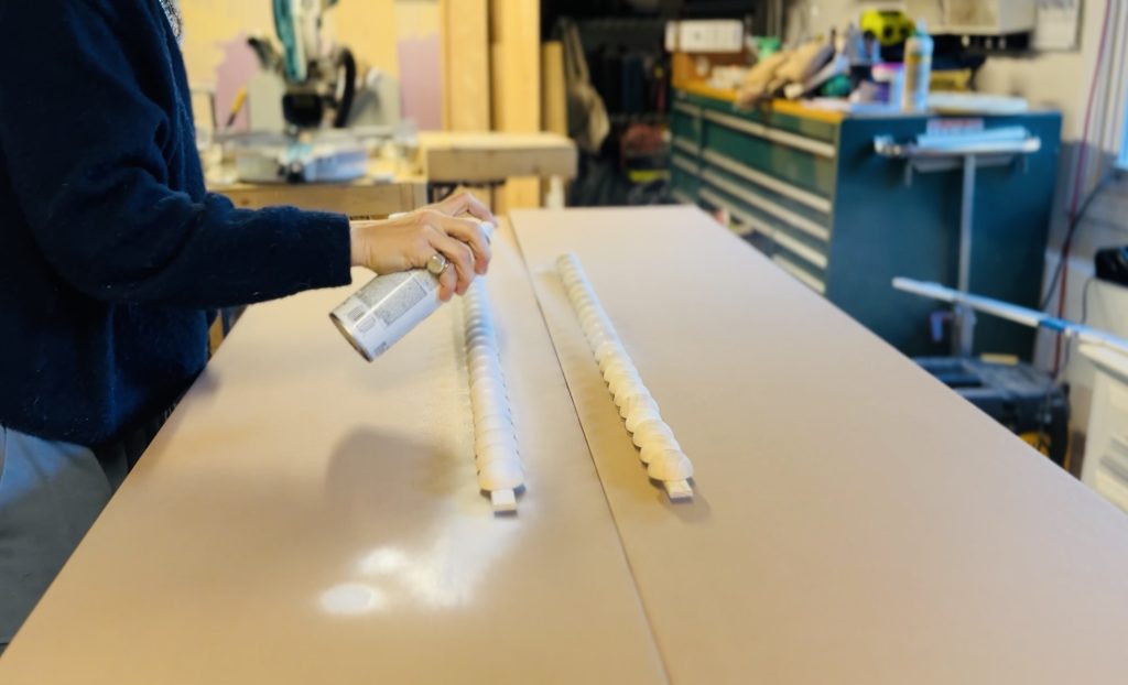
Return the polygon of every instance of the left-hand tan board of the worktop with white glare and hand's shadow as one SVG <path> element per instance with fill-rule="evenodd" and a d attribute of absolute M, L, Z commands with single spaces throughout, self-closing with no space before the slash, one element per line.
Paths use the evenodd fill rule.
<path fill-rule="evenodd" d="M 495 254 L 515 517 L 478 491 L 460 304 L 371 365 L 328 319 L 347 289 L 256 306 L 0 683 L 664 682 L 511 238 Z"/>

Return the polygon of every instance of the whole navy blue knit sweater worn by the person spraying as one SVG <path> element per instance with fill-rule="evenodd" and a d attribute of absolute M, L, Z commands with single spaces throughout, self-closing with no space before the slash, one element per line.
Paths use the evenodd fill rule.
<path fill-rule="evenodd" d="M 204 190 L 158 0 L 0 0 L 0 424 L 112 441 L 203 369 L 208 309 L 350 281 L 345 217 Z"/>

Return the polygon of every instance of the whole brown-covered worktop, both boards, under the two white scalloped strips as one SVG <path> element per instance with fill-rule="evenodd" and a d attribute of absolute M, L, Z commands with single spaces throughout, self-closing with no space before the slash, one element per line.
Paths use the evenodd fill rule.
<path fill-rule="evenodd" d="M 1122 682 L 1122 513 L 696 209 L 512 221 L 515 516 L 477 490 L 458 304 L 372 365 L 349 289 L 252 307 L 0 682 Z M 645 476 L 569 251 L 691 502 Z"/>

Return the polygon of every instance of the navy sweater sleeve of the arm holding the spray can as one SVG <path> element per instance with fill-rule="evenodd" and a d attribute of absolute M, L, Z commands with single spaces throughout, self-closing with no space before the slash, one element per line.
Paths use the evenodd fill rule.
<path fill-rule="evenodd" d="M 105 301 L 191 308 L 350 282 L 345 217 L 241 210 L 169 187 L 176 114 L 147 96 L 139 74 L 151 89 L 153 72 L 138 64 L 167 61 L 164 27 L 131 18 L 126 36 L 116 19 L 86 0 L 0 6 L 12 28 L 0 41 L 0 158 L 61 278 Z"/>

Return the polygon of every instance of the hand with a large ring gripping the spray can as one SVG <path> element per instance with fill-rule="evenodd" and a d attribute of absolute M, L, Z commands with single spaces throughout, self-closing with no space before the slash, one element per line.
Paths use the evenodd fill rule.
<path fill-rule="evenodd" d="M 456 193 L 395 219 L 353 221 L 352 264 L 379 274 L 395 273 L 425 269 L 428 260 L 441 254 L 452 266 L 439 276 L 439 297 L 447 301 L 466 292 L 474 276 L 490 269 L 493 253 L 479 221 L 497 225 L 469 193 Z"/>

